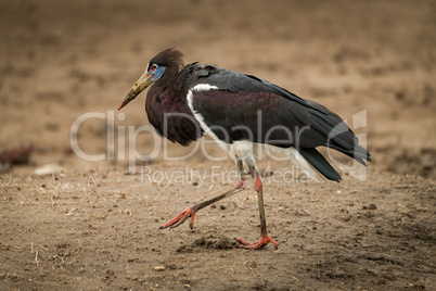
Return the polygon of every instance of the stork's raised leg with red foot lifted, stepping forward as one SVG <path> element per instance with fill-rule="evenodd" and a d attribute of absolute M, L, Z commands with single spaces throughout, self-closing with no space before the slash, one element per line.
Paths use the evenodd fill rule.
<path fill-rule="evenodd" d="M 222 194 L 219 194 L 209 200 L 200 202 L 191 207 L 185 208 L 181 214 L 176 216 L 171 222 L 167 223 L 166 225 L 161 226 L 159 229 L 167 228 L 167 227 L 170 227 L 170 228 L 178 227 L 179 225 L 183 224 L 188 219 L 188 217 L 191 217 L 191 222 L 190 222 L 189 226 L 192 229 L 194 226 L 194 216 L 197 211 L 200 211 L 201 208 L 204 208 L 215 202 L 218 202 L 225 198 L 234 195 L 235 193 L 239 193 L 242 190 L 244 190 L 246 187 L 244 166 L 243 166 L 241 157 L 239 157 L 236 155 L 235 160 L 236 160 L 238 175 L 239 175 L 240 180 L 238 181 L 236 186 L 232 190 L 229 190 L 227 192 L 223 192 Z"/>

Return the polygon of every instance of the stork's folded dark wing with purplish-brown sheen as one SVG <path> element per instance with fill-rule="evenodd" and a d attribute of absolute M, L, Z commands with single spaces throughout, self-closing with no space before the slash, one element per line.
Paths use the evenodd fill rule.
<path fill-rule="evenodd" d="M 255 76 L 213 65 L 196 65 L 193 72 L 193 109 L 222 141 L 251 140 L 297 149 L 332 144 L 358 161 L 370 161 L 352 130 L 325 106 Z M 194 90 L 200 84 L 217 89 Z"/>

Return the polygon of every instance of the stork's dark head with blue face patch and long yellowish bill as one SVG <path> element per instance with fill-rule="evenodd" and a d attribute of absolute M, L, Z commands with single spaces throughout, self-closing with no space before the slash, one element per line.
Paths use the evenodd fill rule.
<path fill-rule="evenodd" d="M 183 65 L 182 63 L 183 54 L 174 48 L 166 49 L 156 56 L 154 56 L 148 64 L 145 72 L 137 80 L 131 90 L 127 93 L 121 105 L 118 110 L 123 109 L 127 103 L 133 100 L 140 92 L 145 90 L 155 81 L 165 84 L 163 80 L 171 81 L 171 77 L 175 78 L 177 72 Z"/>

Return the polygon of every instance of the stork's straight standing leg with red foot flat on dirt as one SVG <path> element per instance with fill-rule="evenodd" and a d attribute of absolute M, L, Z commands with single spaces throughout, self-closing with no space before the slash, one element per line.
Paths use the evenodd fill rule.
<path fill-rule="evenodd" d="M 246 163 L 248 165 L 249 168 L 249 173 L 252 174 L 253 180 L 254 180 L 254 188 L 257 192 L 257 203 L 259 205 L 259 215 L 260 215 L 260 239 L 254 243 L 249 243 L 243 239 L 236 239 L 236 241 L 239 241 L 241 243 L 240 248 L 243 249 L 249 249 L 249 250 L 257 250 L 260 249 L 265 245 L 267 245 L 269 242 L 271 242 L 274 248 L 278 248 L 278 243 L 271 239 L 268 236 L 267 232 L 267 220 L 265 218 L 265 207 L 264 207 L 264 193 L 262 193 L 262 182 L 261 179 L 259 177 L 259 173 L 257 172 L 254 162 L 252 159 L 247 159 Z"/>

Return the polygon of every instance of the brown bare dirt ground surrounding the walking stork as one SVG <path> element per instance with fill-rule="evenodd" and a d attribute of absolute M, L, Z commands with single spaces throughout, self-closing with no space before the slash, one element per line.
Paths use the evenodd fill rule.
<path fill-rule="evenodd" d="M 1 1 L 0 29 L 0 289 L 436 290 L 434 1 Z M 235 248 L 259 236 L 252 186 L 198 212 L 193 230 L 159 230 L 232 187 L 235 169 L 200 150 L 168 161 L 162 139 L 131 131 L 148 124 L 145 94 L 114 111 L 167 47 L 349 122 L 363 112 L 352 128 L 373 157 L 367 179 L 307 182 L 261 160 L 279 250 Z M 78 146 L 103 161 L 72 148 L 84 114 L 97 115 Z"/>

